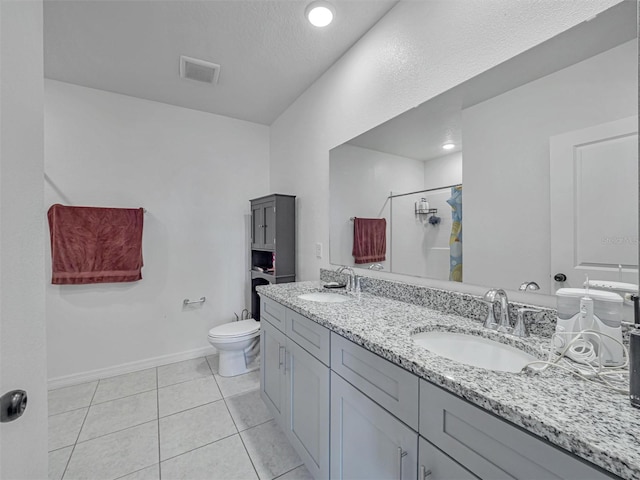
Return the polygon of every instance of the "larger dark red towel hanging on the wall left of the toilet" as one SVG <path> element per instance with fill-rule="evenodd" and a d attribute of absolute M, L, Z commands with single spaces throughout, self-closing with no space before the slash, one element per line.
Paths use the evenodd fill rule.
<path fill-rule="evenodd" d="M 142 208 L 66 207 L 47 212 L 53 284 L 142 278 Z"/>

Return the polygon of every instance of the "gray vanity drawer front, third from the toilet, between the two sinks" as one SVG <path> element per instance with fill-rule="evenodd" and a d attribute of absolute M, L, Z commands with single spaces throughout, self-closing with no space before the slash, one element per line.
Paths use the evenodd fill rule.
<path fill-rule="evenodd" d="M 331 333 L 331 369 L 413 429 L 418 428 L 418 377 Z"/>

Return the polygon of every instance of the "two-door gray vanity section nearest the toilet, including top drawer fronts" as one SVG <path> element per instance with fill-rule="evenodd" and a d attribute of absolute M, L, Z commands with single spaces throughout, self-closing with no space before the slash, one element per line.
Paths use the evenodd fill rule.
<path fill-rule="evenodd" d="M 328 479 L 329 330 L 269 299 L 261 303 L 262 399 L 309 472 Z"/>

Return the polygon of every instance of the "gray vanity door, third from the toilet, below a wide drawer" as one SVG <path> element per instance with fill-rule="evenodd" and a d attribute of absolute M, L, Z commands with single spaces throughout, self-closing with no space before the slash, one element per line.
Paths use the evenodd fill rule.
<path fill-rule="evenodd" d="M 418 434 L 331 372 L 331 478 L 415 480 Z"/>

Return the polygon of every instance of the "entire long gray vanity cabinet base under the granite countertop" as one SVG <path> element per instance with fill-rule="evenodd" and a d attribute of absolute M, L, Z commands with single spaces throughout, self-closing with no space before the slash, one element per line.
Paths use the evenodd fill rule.
<path fill-rule="evenodd" d="M 262 313 L 262 398 L 316 480 L 617 478 L 273 300 Z"/>

